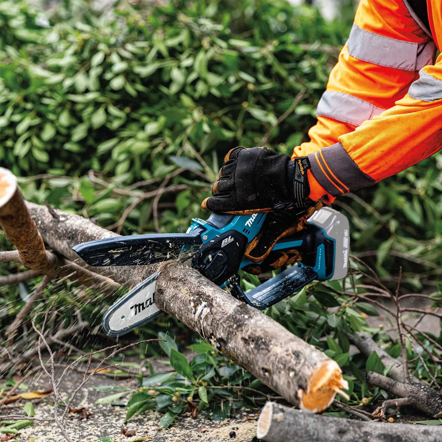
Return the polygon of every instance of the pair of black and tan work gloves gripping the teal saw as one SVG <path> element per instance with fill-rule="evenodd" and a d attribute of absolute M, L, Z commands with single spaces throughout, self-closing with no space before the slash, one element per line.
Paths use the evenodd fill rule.
<path fill-rule="evenodd" d="M 201 206 L 235 215 L 271 212 L 244 255 L 252 263 L 259 263 L 279 239 L 303 229 L 306 219 L 322 206 L 309 199 L 309 168 L 307 157 L 290 160 L 288 155 L 267 148 L 236 147 L 225 156 L 212 196 Z"/>

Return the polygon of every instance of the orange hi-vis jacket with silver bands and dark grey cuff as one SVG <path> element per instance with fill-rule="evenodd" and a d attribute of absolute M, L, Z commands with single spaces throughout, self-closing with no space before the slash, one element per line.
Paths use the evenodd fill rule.
<path fill-rule="evenodd" d="M 332 202 L 442 147 L 442 0 L 361 0 L 316 110 L 308 156 L 310 198 Z M 429 27 L 428 27 L 429 25 Z"/>

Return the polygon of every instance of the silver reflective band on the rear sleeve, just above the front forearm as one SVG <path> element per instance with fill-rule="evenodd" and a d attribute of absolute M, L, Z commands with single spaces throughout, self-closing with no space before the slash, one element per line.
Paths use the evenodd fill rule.
<path fill-rule="evenodd" d="M 361 126 L 364 121 L 371 120 L 384 110 L 350 94 L 325 91 L 316 108 L 316 117 L 328 117 Z"/>

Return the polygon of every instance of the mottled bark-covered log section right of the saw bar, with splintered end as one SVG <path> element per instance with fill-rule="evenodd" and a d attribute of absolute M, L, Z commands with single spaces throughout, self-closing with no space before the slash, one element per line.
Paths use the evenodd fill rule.
<path fill-rule="evenodd" d="M 160 271 L 155 302 L 299 408 L 322 411 L 336 389 L 347 387 L 339 366 L 324 353 L 184 264 Z M 316 370 L 321 385 L 313 381 Z"/>

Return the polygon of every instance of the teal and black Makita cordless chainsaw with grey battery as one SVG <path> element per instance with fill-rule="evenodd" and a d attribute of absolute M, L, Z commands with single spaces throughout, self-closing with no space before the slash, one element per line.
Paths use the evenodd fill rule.
<path fill-rule="evenodd" d="M 274 262 L 272 254 L 282 251 L 299 252 L 301 261 L 244 292 L 238 271 L 255 264 L 244 256 L 244 251 L 258 235 L 266 215 L 212 213 L 206 221 L 193 218 L 187 233 L 118 236 L 79 244 L 73 250 L 91 266 L 141 266 L 179 259 L 259 310 L 267 309 L 313 280 L 336 280 L 347 275 L 347 217 L 323 207 L 308 218 L 305 229 L 279 240 L 271 255 L 257 264 L 262 271 L 273 270 L 267 263 Z M 108 336 L 125 335 L 161 313 L 155 305 L 158 275 L 152 274 L 107 310 L 102 328 Z"/>

